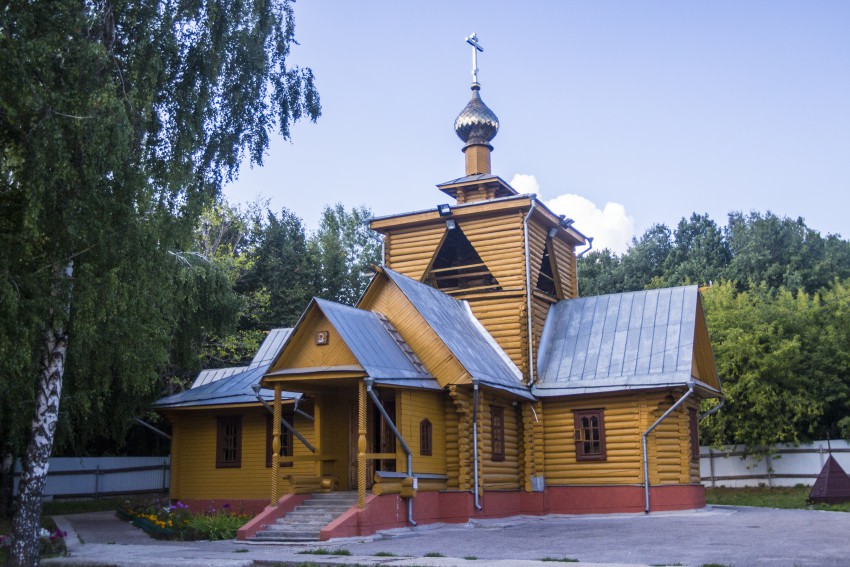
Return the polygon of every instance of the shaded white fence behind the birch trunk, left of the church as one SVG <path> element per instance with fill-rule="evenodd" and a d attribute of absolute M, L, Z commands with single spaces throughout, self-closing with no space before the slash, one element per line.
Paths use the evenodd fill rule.
<path fill-rule="evenodd" d="M 73 498 L 167 492 L 169 457 L 53 457 L 47 473 L 47 498 Z M 15 467 L 17 494 L 21 465 Z"/>

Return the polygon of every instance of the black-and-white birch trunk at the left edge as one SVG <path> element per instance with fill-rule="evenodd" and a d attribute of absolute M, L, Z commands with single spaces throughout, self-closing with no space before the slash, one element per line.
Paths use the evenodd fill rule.
<path fill-rule="evenodd" d="M 50 310 L 47 329 L 44 332 L 44 354 L 39 366 L 32 437 L 21 471 L 18 508 L 13 522 L 14 538 L 9 557 L 9 565 L 13 567 L 31 567 L 39 564 L 38 531 L 41 528 L 44 486 L 47 482 L 47 469 L 59 416 L 62 376 L 65 373 L 65 356 L 68 350 L 67 321 L 71 309 L 73 270 L 73 261 L 58 267 L 52 286 L 51 293 L 57 301 L 62 302 L 62 310 Z"/>

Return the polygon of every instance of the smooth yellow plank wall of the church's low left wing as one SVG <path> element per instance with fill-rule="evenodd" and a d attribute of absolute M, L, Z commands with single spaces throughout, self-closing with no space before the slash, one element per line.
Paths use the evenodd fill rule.
<path fill-rule="evenodd" d="M 171 497 L 183 499 L 265 499 L 271 495 L 271 468 L 266 467 L 266 415 L 263 407 L 169 412 L 172 423 Z M 242 416 L 242 466 L 216 468 L 216 418 Z M 312 423 L 296 417 L 295 427 L 315 442 Z M 295 455 L 308 453 L 293 439 Z M 312 463 L 281 467 L 281 493 L 289 491 L 289 475 L 313 474 Z"/>

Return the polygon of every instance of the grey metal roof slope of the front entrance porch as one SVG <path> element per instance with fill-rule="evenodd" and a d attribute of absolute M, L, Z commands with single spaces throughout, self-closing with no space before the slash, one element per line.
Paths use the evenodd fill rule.
<path fill-rule="evenodd" d="M 313 301 L 375 382 L 440 389 L 410 346 L 380 315 L 324 299 Z"/>

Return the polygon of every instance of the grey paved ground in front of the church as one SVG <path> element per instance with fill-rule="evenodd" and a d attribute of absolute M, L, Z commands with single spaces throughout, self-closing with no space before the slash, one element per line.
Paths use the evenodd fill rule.
<path fill-rule="evenodd" d="M 64 565 L 210 565 L 335 563 L 396 566 L 532 566 L 549 558 L 584 565 L 748 566 L 850 565 L 850 514 L 714 506 L 649 516 L 546 516 L 429 525 L 321 545 L 247 545 L 237 542 L 162 542 L 108 512 L 58 517 L 69 537 Z M 61 526 L 60 526 L 61 527 Z M 70 528 L 70 529 L 69 529 Z M 322 547 L 349 557 L 300 554 Z M 375 556 L 394 553 L 402 557 Z M 425 558 L 442 553 L 445 558 Z M 467 560 L 475 557 L 476 560 Z M 570 563 L 571 565 L 581 565 Z"/>

